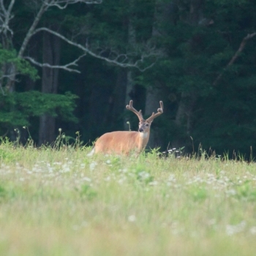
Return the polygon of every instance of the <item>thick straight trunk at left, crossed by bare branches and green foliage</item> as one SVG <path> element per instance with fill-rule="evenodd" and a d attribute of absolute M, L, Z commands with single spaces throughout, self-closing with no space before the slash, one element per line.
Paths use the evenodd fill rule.
<path fill-rule="evenodd" d="M 43 33 L 42 61 L 58 65 L 60 59 L 60 39 L 47 32 Z M 59 69 L 42 68 L 42 92 L 56 94 L 58 88 Z M 39 118 L 39 145 L 53 143 L 56 139 L 56 119 L 45 113 Z"/>

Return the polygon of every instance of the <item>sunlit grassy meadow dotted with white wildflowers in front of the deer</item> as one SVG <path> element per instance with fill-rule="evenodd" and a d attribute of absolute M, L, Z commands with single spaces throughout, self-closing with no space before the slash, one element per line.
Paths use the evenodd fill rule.
<path fill-rule="evenodd" d="M 256 255 L 256 165 L 0 144 L 0 255 Z"/>

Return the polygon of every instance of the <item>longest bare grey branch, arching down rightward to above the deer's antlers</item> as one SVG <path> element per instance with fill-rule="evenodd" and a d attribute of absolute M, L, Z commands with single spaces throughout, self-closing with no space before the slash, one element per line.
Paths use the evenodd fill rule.
<path fill-rule="evenodd" d="M 61 39 L 63 39 L 65 42 L 67 42 L 69 45 L 73 45 L 76 48 L 79 48 L 80 50 L 83 50 L 84 53 L 88 53 L 90 56 L 93 56 L 97 59 L 102 59 L 104 61 L 107 61 L 108 63 L 111 64 L 116 64 L 119 67 L 136 67 L 138 68 L 141 72 L 145 71 L 146 69 L 149 69 L 150 67 L 154 66 L 154 63 L 152 63 L 151 65 L 149 65 L 148 67 L 144 67 L 141 68 L 140 64 L 143 63 L 143 61 L 145 61 L 145 59 L 149 58 L 149 57 L 159 57 L 161 56 L 161 53 L 157 50 L 155 50 L 154 48 L 150 48 L 148 53 L 142 53 L 140 56 L 140 59 L 136 60 L 136 61 L 131 61 L 129 58 L 129 56 L 132 56 L 132 54 L 118 54 L 116 53 L 115 50 L 111 50 L 111 49 L 101 49 L 99 50 L 99 53 L 94 53 L 94 51 L 90 50 L 88 47 L 88 44 L 86 43 L 86 47 L 83 45 L 80 45 L 77 42 L 73 42 L 72 40 L 68 39 L 67 37 L 64 37 L 62 34 L 59 34 L 56 31 L 53 31 L 51 29 L 42 27 L 39 29 L 35 29 L 33 34 L 37 34 L 39 31 L 48 31 L 48 33 L 50 34 L 54 34 L 56 37 L 59 37 Z M 103 54 L 108 53 L 109 52 L 109 56 L 105 57 L 103 56 Z M 110 55 L 113 56 L 112 58 L 110 58 Z M 133 53 L 133 56 L 138 55 L 138 53 Z"/>

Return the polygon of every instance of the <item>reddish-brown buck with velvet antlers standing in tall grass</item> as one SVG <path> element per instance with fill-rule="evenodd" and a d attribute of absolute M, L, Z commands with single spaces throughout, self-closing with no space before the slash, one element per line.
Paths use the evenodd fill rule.
<path fill-rule="evenodd" d="M 116 131 L 105 133 L 98 138 L 94 144 L 94 148 L 88 155 L 91 156 L 94 153 L 129 155 L 133 152 L 137 155 L 140 154 L 148 143 L 152 121 L 163 113 L 163 103 L 162 101 L 159 103 L 160 108 L 157 109 L 157 113 L 153 112 L 152 115 L 145 120 L 141 110 L 135 110 L 132 106 L 132 100 L 130 100 L 127 109 L 131 110 L 139 118 L 138 132 Z"/>

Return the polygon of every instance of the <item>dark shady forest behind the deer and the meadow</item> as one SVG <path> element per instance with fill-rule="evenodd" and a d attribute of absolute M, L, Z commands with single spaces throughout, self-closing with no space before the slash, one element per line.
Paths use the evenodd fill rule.
<path fill-rule="evenodd" d="M 0 0 L 0 138 L 92 145 L 138 129 L 130 99 L 146 117 L 162 100 L 148 148 L 253 157 L 255 13 L 254 0 Z"/>

